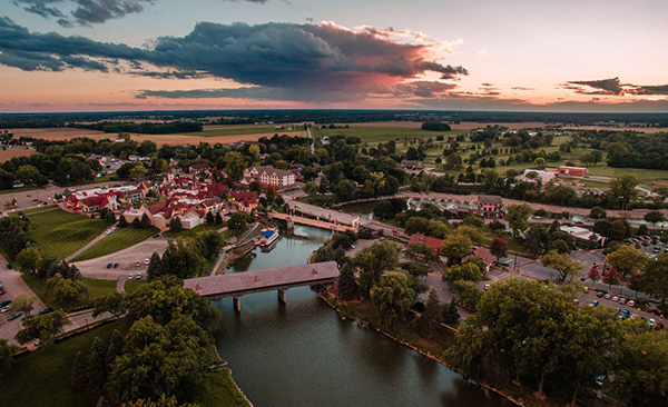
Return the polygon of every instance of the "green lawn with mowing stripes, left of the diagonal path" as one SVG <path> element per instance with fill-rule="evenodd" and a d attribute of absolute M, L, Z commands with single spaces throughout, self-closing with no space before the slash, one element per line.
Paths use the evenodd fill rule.
<path fill-rule="evenodd" d="M 30 215 L 30 211 L 24 214 Z M 77 251 L 109 227 L 101 219 L 90 219 L 61 209 L 43 210 L 29 218 L 28 237 L 37 242 L 43 254 L 57 259 Z"/>

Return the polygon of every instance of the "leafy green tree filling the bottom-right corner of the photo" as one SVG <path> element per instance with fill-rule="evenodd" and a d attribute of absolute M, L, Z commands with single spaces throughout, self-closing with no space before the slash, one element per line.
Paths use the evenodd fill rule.
<path fill-rule="evenodd" d="M 631 334 L 621 345 L 612 394 L 628 406 L 654 407 L 668 398 L 668 334 Z"/>

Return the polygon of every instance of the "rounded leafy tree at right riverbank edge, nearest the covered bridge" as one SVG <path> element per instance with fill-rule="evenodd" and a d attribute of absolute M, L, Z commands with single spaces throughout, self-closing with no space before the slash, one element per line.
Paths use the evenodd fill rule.
<path fill-rule="evenodd" d="M 415 298 L 410 279 L 414 278 L 405 271 L 387 271 L 371 289 L 371 301 L 379 310 L 382 325 L 392 329 L 395 322 L 402 321 Z"/>

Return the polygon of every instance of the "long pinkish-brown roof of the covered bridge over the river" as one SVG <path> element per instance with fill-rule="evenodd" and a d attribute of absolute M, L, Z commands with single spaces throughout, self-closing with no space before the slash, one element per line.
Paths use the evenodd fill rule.
<path fill-rule="evenodd" d="M 308 282 L 316 284 L 317 281 L 332 280 L 336 277 L 338 277 L 338 266 L 335 261 L 326 261 L 313 265 L 190 278 L 184 280 L 184 288 L 189 288 L 203 297 L 223 297 L 307 285 Z"/>

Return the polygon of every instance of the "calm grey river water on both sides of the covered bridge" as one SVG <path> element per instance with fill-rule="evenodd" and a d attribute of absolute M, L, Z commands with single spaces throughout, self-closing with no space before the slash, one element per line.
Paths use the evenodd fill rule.
<path fill-rule="evenodd" d="M 296 226 L 271 252 L 256 249 L 228 272 L 305 264 L 331 232 Z M 291 288 L 287 305 L 276 292 L 214 302 L 223 317 L 220 356 L 248 399 L 264 406 L 510 407 L 512 403 L 464 380 L 362 325 L 342 320 L 310 288 Z"/>

